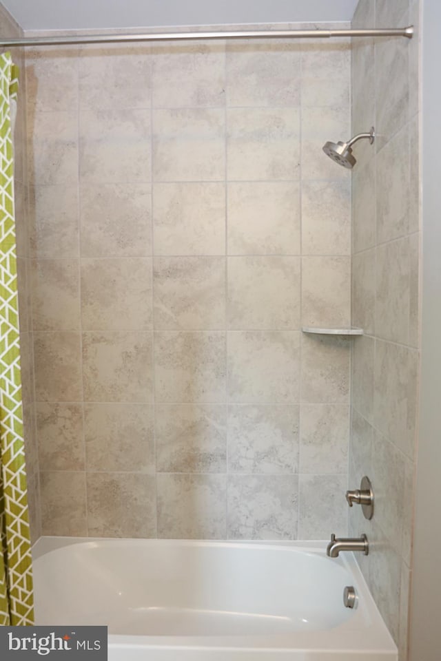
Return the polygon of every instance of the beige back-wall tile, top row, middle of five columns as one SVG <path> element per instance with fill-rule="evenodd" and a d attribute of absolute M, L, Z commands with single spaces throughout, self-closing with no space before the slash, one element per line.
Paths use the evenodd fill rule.
<path fill-rule="evenodd" d="M 153 107 L 225 106 L 225 43 L 155 44 Z"/>

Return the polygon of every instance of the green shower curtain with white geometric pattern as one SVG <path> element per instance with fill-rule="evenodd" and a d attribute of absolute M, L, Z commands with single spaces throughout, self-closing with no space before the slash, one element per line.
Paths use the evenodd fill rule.
<path fill-rule="evenodd" d="M 23 443 L 23 408 L 14 220 L 11 103 L 18 70 L 0 55 L 0 625 L 32 625 L 32 564 Z"/>

